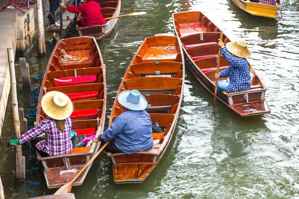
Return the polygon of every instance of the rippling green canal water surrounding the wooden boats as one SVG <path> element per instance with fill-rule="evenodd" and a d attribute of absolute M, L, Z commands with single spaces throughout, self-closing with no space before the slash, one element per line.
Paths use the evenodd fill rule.
<path fill-rule="evenodd" d="M 213 98 L 186 68 L 184 98 L 174 136 L 162 160 L 142 184 L 116 185 L 112 162 L 103 153 L 84 184 L 73 187 L 76 199 L 298 199 L 299 198 L 299 0 L 282 0 L 284 19 L 250 16 L 231 0 L 124 0 L 122 13 L 147 15 L 120 18 L 99 46 L 107 70 L 107 121 L 121 79 L 144 38 L 172 33 L 171 14 L 201 10 L 232 40 L 244 38 L 249 58 L 267 87 L 270 114 L 240 117 Z M 279 13 L 278 13 L 279 15 Z M 69 36 L 76 36 L 76 32 Z M 24 56 L 30 66 L 32 88 L 22 91 L 29 126 L 41 80 L 55 44 L 38 58 L 37 44 Z M 17 57 L 23 55 L 17 55 Z M 17 79 L 19 68 L 16 67 Z M 14 152 L 7 148 L 13 136 L 11 100 L 8 100 L 0 145 L 0 175 L 7 199 L 50 195 L 41 165 L 29 145 L 26 185 L 14 182 Z M 106 122 L 107 123 L 107 122 Z"/>

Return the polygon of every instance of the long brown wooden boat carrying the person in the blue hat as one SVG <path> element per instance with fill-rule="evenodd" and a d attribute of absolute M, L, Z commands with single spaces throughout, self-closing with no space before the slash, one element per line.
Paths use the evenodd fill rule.
<path fill-rule="evenodd" d="M 167 49 L 167 46 L 172 47 Z M 164 50 L 167 49 L 167 50 Z M 144 40 L 131 61 L 114 101 L 109 124 L 125 111 L 117 100 L 125 90 L 139 90 L 148 100 L 146 111 L 162 133 L 152 133 L 152 149 L 134 154 L 108 153 L 115 183 L 142 183 L 170 143 L 184 88 L 184 59 L 177 37 L 152 36 Z"/>

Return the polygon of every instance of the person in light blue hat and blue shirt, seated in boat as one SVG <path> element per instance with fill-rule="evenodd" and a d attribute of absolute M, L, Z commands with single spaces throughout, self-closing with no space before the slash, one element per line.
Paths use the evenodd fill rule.
<path fill-rule="evenodd" d="M 148 151 L 153 146 L 151 119 L 145 110 L 148 101 L 137 90 L 123 91 L 119 94 L 118 101 L 127 109 L 114 119 L 103 134 L 95 137 L 93 142 L 101 141 L 103 146 L 111 140 L 105 148 L 106 152 L 111 153 Z"/>

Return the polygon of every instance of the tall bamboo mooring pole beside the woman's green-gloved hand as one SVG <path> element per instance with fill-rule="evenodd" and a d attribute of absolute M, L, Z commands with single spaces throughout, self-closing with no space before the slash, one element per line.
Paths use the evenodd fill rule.
<path fill-rule="evenodd" d="M 16 80 L 15 80 L 15 71 L 14 71 L 14 55 L 12 48 L 7 48 L 8 54 L 8 65 L 10 72 L 10 88 L 11 88 L 11 105 L 13 113 L 13 125 L 15 138 L 17 139 L 21 136 L 20 132 L 20 121 L 18 114 L 18 104 L 17 104 L 17 95 L 16 95 Z M 16 185 L 21 185 L 25 183 L 25 157 L 22 156 L 22 146 L 15 146 L 15 180 Z"/>

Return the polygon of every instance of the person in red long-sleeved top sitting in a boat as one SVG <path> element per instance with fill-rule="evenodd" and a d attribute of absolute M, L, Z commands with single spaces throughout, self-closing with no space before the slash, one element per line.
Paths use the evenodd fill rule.
<path fill-rule="evenodd" d="M 76 23 L 78 26 L 86 27 L 86 26 L 94 26 L 94 25 L 102 25 L 107 23 L 106 19 L 102 15 L 102 9 L 99 3 L 93 0 L 86 0 L 81 5 L 67 5 L 65 6 L 63 3 L 59 3 L 59 7 L 63 9 L 67 9 L 69 12 L 82 12 L 84 19 L 78 20 Z"/>

